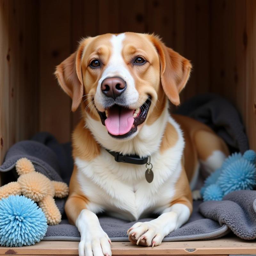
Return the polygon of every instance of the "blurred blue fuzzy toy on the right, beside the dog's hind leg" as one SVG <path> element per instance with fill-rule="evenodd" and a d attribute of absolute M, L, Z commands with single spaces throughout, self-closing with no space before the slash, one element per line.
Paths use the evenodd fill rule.
<path fill-rule="evenodd" d="M 241 189 L 254 189 L 256 187 L 256 153 L 247 150 L 228 156 L 220 169 L 213 172 L 201 188 L 204 201 L 222 200 L 228 193 Z"/>

